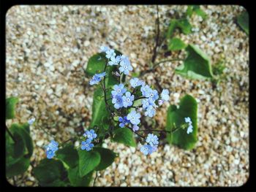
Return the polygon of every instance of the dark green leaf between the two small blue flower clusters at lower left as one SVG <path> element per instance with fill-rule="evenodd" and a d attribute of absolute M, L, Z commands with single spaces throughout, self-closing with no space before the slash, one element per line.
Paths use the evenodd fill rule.
<path fill-rule="evenodd" d="M 56 151 L 56 158 L 63 161 L 70 168 L 78 166 L 78 151 L 73 145 L 67 145 Z"/>

